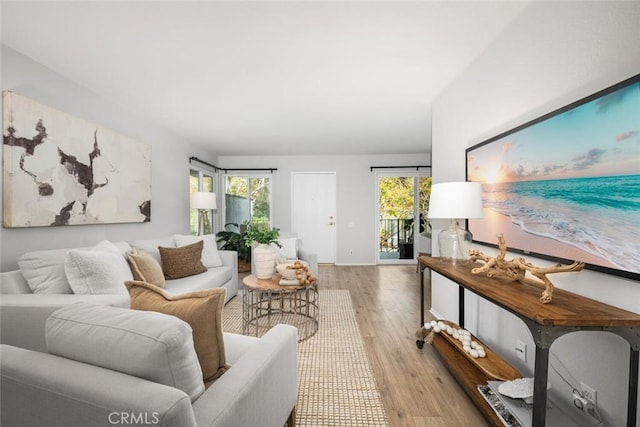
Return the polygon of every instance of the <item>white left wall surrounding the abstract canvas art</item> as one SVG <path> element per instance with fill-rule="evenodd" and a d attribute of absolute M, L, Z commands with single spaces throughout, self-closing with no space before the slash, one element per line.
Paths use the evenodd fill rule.
<path fill-rule="evenodd" d="M 124 107 L 101 99 L 4 45 L 1 49 L 3 91 L 11 90 L 152 146 L 150 223 L 0 228 L 1 271 L 16 268 L 18 257 L 29 250 L 189 232 L 189 157 L 215 162 L 214 153 L 140 120 Z"/>

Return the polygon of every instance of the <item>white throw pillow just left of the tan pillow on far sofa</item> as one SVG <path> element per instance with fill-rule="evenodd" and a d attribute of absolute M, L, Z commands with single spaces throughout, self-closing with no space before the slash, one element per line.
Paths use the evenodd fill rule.
<path fill-rule="evenodd" d="M 124 282 L 133 279 L 120 250 L 107 240 L 91 249 L 71 249 L 64 269 L 74 294 L 128 295 Z"/>

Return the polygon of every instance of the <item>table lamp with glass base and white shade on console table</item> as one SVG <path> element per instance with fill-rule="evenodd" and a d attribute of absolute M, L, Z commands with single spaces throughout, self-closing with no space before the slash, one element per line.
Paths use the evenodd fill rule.
<path fill-rule="evenodd" d="M 473 236 L 460 228 L 458 220 L 482 217 L 480 183 L 445 182 L 431 186 L 427 218 L 451 219 L 451 226 L 438 235 L 440 257 L 452 263 L 468 260 Z"/>

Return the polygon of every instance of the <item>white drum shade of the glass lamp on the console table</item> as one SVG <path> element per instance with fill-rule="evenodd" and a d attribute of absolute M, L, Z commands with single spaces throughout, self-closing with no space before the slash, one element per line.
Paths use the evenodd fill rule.
<path fill-rule="evenodd" d="M 479 182 L 443 182 L 431 186 L 427 218 L 482 218 Z"/>

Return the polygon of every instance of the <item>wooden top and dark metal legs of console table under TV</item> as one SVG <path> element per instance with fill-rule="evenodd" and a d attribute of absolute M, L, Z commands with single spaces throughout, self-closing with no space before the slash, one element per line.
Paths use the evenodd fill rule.
<path fill-rule="evenodd" d="M 558 288 L 554 291 L 553 301 L 549 304 L 542 304 L 540 302 L 541 287 L 536 285 L 472 274 L 470 263 L 451 264 L 430 256 L 420 257 L 418 262 L 421 272 L 421 295 L 424 295 L 425 268 L 429 268 L 459 285 L 459 324 L 461 327 L 464 327 L 465 289 L 513 313 L 527 325 L 536 345 L 533 426 L 545 425 L 549 348 L 557 338 L 577 331 L 605 331 L 624 338 L 630 346 L 627 426 L 636 426 L 640 314 Z M 480 265 L 478 263 L 474 267 Z M 422 323 L 420 326 L 424 324 L 424 299 L 421 302 L 421 307 Z"/>

